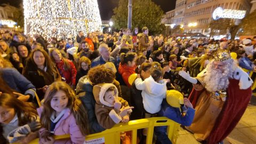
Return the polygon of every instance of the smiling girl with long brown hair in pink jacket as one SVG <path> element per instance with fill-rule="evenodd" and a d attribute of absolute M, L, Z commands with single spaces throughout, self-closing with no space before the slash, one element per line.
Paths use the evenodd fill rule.
<path fill-rule="evenodd" d="M 89 133 L 87 111 L 75 92 L 65 82 L 54 82 L 45 93 L 42 107 L 37 109 L 42 124 L 39 130 L 42 143 L 51 143 L 51 135 L 70 134 L 61 143 L 83 143 Z"/>

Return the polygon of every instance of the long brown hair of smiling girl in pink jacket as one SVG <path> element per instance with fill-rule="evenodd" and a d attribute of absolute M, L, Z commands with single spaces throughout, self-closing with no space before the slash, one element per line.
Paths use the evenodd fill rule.
<path fill-rule="evenodd" d="M 87 119 L 87 111 L 84 108 L 81 100 L 76 97 L 75 92 L 65 82 L 54 82 L 46 90 L 43 103 L 43 112 L 40 119 L 42 126 L 45 129 L 50 130 L 50 117 L 54 112 L 54 109 L 51 107 L 51 100 L 58 91 L 63 91 L 66 93 L 66 96 L 68 97 L 67 108 L 69 108 L 71 114 L 74 115 L 79 130 L 83 135 L 89 134 L 89 121 Z"/>

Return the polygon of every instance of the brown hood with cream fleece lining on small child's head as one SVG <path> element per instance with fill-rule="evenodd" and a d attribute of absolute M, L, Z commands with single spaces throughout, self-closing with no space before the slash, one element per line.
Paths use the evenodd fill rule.
<path fill-rule="evenodd" d="M 118 90 L 114 84 L 101 83 L 93 86 L 92 92 L 93 92 L 96 103 L 98 103 L 99 105 L 114 107 L 114 105 L 104 100 L 104 95 L 106 91 L 109 89 L 109 87 L 114 87 L 115 98 L 118 98 Z"/>

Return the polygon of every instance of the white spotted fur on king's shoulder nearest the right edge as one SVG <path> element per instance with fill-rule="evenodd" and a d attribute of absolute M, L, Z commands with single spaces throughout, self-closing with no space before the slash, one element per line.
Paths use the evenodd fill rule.
<path fill-rule="evenodd" d="M 239 87 L 241 90 L 248 89 L 253 83 L 250 76 L 247 73 L 245 73 L 245 71 L 240 67 L 236 68 L 233 77 L 239 80 Z"/>

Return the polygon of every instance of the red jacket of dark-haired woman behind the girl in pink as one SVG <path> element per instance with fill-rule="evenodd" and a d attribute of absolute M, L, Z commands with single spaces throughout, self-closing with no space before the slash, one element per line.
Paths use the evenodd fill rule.
<path fill-rule="evenodd" d="M 65 70 L 64 69 L 64 62 L 63 59 L 59 62 L 56 63 L 56 66 L 59 70 L 59 73 L 62 77 L 66 78 L 66 83 L 69 85 L 76 85 L 76 67 L 74 63 L 68 59 L 66 59 L 69 63 L 70 68 Z"/>

